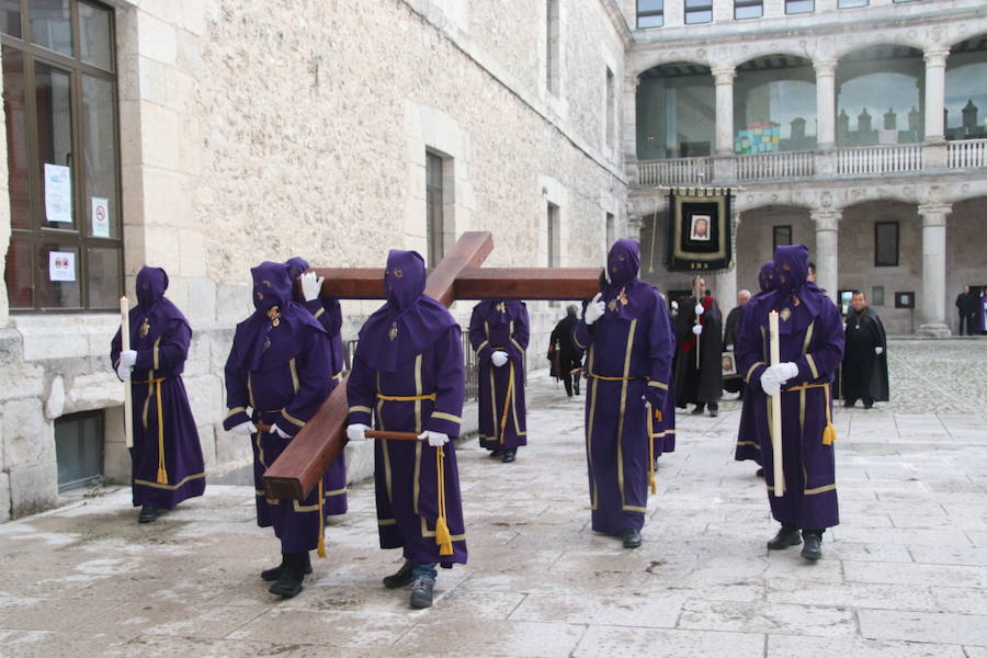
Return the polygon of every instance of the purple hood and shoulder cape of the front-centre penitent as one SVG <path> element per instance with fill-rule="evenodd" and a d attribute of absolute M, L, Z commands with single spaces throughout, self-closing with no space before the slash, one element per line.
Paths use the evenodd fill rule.
<path fill-rule="evenodd" d="M 375 371 L 393 373 L 399 359 L 413 359 L 445 336 L 455 319 L 424 294 L 424 260 L 416 251 L 392 249 L 384 271 L 387 303 L 360 330 L 361 352 Z"/>

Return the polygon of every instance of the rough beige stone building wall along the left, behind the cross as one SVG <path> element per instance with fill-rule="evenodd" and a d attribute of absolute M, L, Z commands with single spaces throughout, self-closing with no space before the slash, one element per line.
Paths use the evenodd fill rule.
<path fill-rule="evenodd" d="M 75 66 L 80 88 L 90 72 L 115 83 L 102 116 L 117 121 L 120 211 L 111 219 L 122 220 L 123 274 L 118 283 L 88 281 L 86 295 L 133 294 L 145 263 L 169 272 L 168 296 L 194 330 L 185 385 L 214 474 L 249 460 L 246 436 L 219 424 L 223 365 L 234 326 L 252 310 L 249 268 L 261 260 L 297 254 L 315 266 L 379 266 L 392 247 L 441 252 L 463 231 L 489 230 L 489 265 L 579 266 L 601 263 L 608 240 L 627 231 L 620 89 L 629 31 L 609 0 L 66 0 L 65 8 L 0 16 L 11 101 L 0 163 L 13 162 L 0 172 L 8 250 L 0 519 L 56 502 L 66 467 L 56 434 L 80 412 L 100 417 L 101 473 L 128 479 L 123 389 L 107 355 L 118 315 L 39 300 L 52 287 L 48 251 L 68 249 L 46 246 L 63 225 L 37 205 L 39 188 L 25 209 L 10 186 L 24 184 L 23 111 L 27 126 L 37 121 L 32 110 L 47 113 L 37 121 L 45 129 L 57 118 L 57 86 L 44 100 L 23 89 L 39 89 L 46 66 Z M 113 58 L 99 71 L 92 39 L 105 29 L 93 12 L 112 16 Z M 81 35 L 76 50 L 72 34 Z M 38 43 L 58 53 L 32 49 Z M 21 68 L 21 58 L 33 64 Z M 81 105 L 91 110 L 84 89 Z M 65 131 L 91 135 L 91 114 L 66 116 Z M 58 139 L 56 129 L 32 145 L 30 161 L 49 162 L 46 154 L 58 149 L 48 141 Z M 81 192 L 72 226 L 86 232 L 91 194 Z M 115 196 L 106 196 L 116 214 Z M 80 277 L 94 276 L 90 238 L 78 238 L 78 261 L 89 268 L 73 263 Z M 33 260 L 24 256 L 31 249 L 41 249 Z M 22 280 L 42 281 L 34 296 Z M 347 339 L 375 307 L 344 303 Z M 531 355 L 542 359 L 564 311 L 530 308 Z M 469 310 L 455 308 L 464 321 Z"/>

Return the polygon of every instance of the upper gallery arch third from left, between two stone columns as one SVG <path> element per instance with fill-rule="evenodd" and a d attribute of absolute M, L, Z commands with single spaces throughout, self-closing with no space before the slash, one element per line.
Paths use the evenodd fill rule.
<path fill-rule="evenodd" d="M 909 144 L 924 136 L 921 50 L 881 45 L 854 50 L 837 67 L 837 144 Z"/>

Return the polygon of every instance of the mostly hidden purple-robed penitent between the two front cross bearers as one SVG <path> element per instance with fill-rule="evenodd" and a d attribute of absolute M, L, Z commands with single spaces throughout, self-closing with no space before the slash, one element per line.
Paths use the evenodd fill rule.
<path fill-rule="evenodd" d="M 284 263 L 288 269 L 288 277 L 292 280 L 293 299 L 308 309 L 315 319 L 319 321 L 326 333 L 329 334 L 329 372 L 332 373 L 329 382 L 329 392 L 339 386 L 342 381 L 343 343 L 342 343 L 342 309 L 339 299 L 322 299 L 317 297 L 306 302 L 298 290 L 297 280 L 308 270 L 308 261 L 304 258 L 290 258 Z M 347 455 L 339 453 L 336 461 L 329 464 L 326 470 L 326 513 L 330 517 L 347 513 Z"/>

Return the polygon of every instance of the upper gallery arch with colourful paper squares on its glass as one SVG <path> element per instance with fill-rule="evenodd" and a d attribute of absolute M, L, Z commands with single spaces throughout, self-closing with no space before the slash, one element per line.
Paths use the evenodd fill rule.
<path fill-rule="evenodd" d="M 734 79 L 734 151 L 761 154 L 816 146 L 816 72 L 793 55 L 745 61 Z"/>

